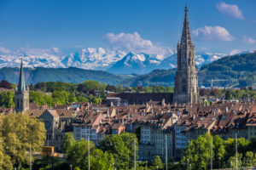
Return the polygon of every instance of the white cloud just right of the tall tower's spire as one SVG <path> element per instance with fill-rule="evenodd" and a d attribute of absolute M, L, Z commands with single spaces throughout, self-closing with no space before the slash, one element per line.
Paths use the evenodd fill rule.
<path fill-rule="evenodd" d="M 234 37 L 230 35 L 224 27 L 205 26 L 192 31 L 195 38 L 203 41 L 232 41 Z"/>

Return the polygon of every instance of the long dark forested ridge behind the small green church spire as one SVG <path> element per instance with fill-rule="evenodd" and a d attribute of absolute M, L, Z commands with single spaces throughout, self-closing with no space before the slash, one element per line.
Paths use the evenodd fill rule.
<path fill-rule="evenodd" d="M 19 81 L 19 68 L 4 67 L 0 69 L 0 80 L 17 83 Z M 38 82 L 73 82 L 79 83 L 85 80 L 95 80 L 108 84 L 117 84 L 124 80 L 107 71 L 90 71 L 74 67 L 69 68 L 25 68 L 26 83 Z"/>

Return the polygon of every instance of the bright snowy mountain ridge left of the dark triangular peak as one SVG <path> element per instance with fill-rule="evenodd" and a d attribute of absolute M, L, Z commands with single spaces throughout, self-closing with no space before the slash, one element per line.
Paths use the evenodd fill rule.
<path fill-rule="evenodd" d="M 0 54 L 0 68 L 19 67 L 22 56 L 25 67 L 78 67 L 87 70 L 106 70 L 125 56 L 124 51 L 104 48 L 82 48 L 64 54 Z"/>

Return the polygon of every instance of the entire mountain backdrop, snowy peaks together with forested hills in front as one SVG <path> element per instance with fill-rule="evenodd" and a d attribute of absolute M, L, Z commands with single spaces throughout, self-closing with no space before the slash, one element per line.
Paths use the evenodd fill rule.
<path fill-rule="evenodd" d="M 118 51 L 111 54 L 103 48 L 89 48 L 82 52 L 81 54 L 69 54 L 62 59 L 54 54 L 45 54 L 44 57 L 25 55 L 23 57 L 25 67 L 27 65 L 35 66 L 25 68 L 26 83 L 55 81 L 80 83 L 85 80 L 96 80 L 132 87 L 174 85 L 177 54 L 165 56 L 133 52 L 126 54 Z M 256 52 L 248 52 L 230 56 L 197 53 L 195 62 L 198 65 L 199 87 L 210 87 L 212 80 L 213 85 L 218 87 L 256 86 Z M 77 68 L 86 63 L 90 64 L 88 67 L 101 68 L 105 71 Z M 0 68 L 0 80 L 17 83 L 20 59 L 15 55 L 9 57 L 0 55 L 0 65 L 3 67 Z"/>

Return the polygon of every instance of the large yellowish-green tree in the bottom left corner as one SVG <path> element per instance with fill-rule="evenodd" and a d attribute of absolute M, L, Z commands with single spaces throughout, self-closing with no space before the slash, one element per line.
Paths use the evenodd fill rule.
<path fill-rule="evenodd" d="M 27 151 L 30 148 L 30 142 L 32 152 L 41 152 L 45 136 L 44 122 L 39 119 L 22 113 L 0 116 L 0 139 L 2 148 L 4 148 L 3 155 L 6 159 L 11 157 L 14 167 L 28 164 Z"/>

